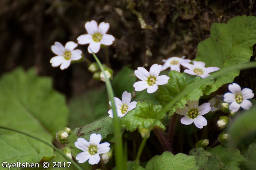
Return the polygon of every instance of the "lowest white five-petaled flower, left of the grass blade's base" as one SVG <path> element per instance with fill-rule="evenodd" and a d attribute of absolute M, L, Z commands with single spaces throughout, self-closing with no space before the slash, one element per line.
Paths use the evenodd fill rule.
<path fill-rule="evenodd" d="M 99 142 L 101 142 L 101 135 L 95 133 L 91 134 L 89 142 L 84 138 L 78 138 L 75 146 L 83 152 L 76 155 L 76 160 L 79 163 L 84 163 L 89 159 L 91 165 L 99 163 L 101 159 L 99 154 L 105 154 L 110 150 L 108 142 L 101 144 Z"/>

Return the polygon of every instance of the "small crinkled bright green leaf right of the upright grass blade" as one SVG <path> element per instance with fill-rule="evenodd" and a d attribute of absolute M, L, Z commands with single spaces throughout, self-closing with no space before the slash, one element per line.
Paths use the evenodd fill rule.
<path fill-rule="evenodd" d="M 121 118 L 121 127 L 127 128 L 129 131 L 134 131 L 137 128 L 153 129 L 153 127 L 160 127 L 165 129 L 165 126 L 161 123 L 161 119 L 165 117 L 165 113 L 162 112 L 162 106 L 156 105 L 146 100 L 143 103 L 138 102 L 135 109 L 127 112 L 127 114 Z"/>

